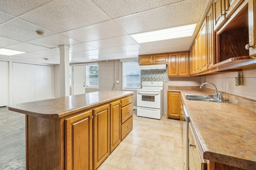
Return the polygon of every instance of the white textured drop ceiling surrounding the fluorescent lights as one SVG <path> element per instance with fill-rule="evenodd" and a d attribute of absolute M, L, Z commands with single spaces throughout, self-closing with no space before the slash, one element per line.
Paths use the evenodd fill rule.
<path fill-rule="evenodd" d="M 0 60 L 70 64 L 188 51 L 212 0 L 1 0 L 0 48 L 23 51 Z M 131 34 L 197 23 L 192 37 L 137 43 Z M 45 35 L 37 35 L 36 31 Z M 47 60 L 46 60 L 47 59 Z"/>

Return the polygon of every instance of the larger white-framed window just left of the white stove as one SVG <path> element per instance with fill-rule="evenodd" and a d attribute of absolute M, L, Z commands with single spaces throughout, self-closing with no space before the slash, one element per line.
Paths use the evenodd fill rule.
<path fill-rule="evenodd" d="M 123 62 L 123 90 L 140 88 L 140 66 L 136 62 Z"/>

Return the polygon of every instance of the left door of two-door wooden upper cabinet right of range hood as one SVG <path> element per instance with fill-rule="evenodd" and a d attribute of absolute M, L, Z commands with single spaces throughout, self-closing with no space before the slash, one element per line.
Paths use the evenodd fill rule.
<path fill-rule="evenodd" d="M 169 54 L 168 76 L 178 76 L 178 53 Z"/>

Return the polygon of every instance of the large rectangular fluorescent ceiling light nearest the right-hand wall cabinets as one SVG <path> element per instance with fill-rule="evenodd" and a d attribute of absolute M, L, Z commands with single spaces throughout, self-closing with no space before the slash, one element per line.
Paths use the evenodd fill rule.
<path fill-rule="evenodd" d="M 190 37 L 193 35 L 195 27 L 196 27 L 196 23 L 190 24 L 190 25 L 184 25 L 180 27 L 150 31 L 146 33 L 133 34 L 131 35 L 131 37 L 135 41 L 137 41 L 137 43 L 147 43 L 147 42 L 161 41 L 166 39 Z"/>

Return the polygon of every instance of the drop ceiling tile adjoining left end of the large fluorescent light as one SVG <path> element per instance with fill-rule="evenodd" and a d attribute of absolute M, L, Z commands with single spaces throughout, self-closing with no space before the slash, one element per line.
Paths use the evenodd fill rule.
<path fill-rule="evenodd" d="M 132 45 L 132 44 L 136 44 L 136 42 L 129 35 L 124 35 L 120 37 L 90 41 L 90 42 L 87 42 L 86 44 L 92 47 L 95 47 L 97 49 L 103 49 L 103 48 L 117 47 L 117 46 L 123 46 L 123 45 Z"/>

